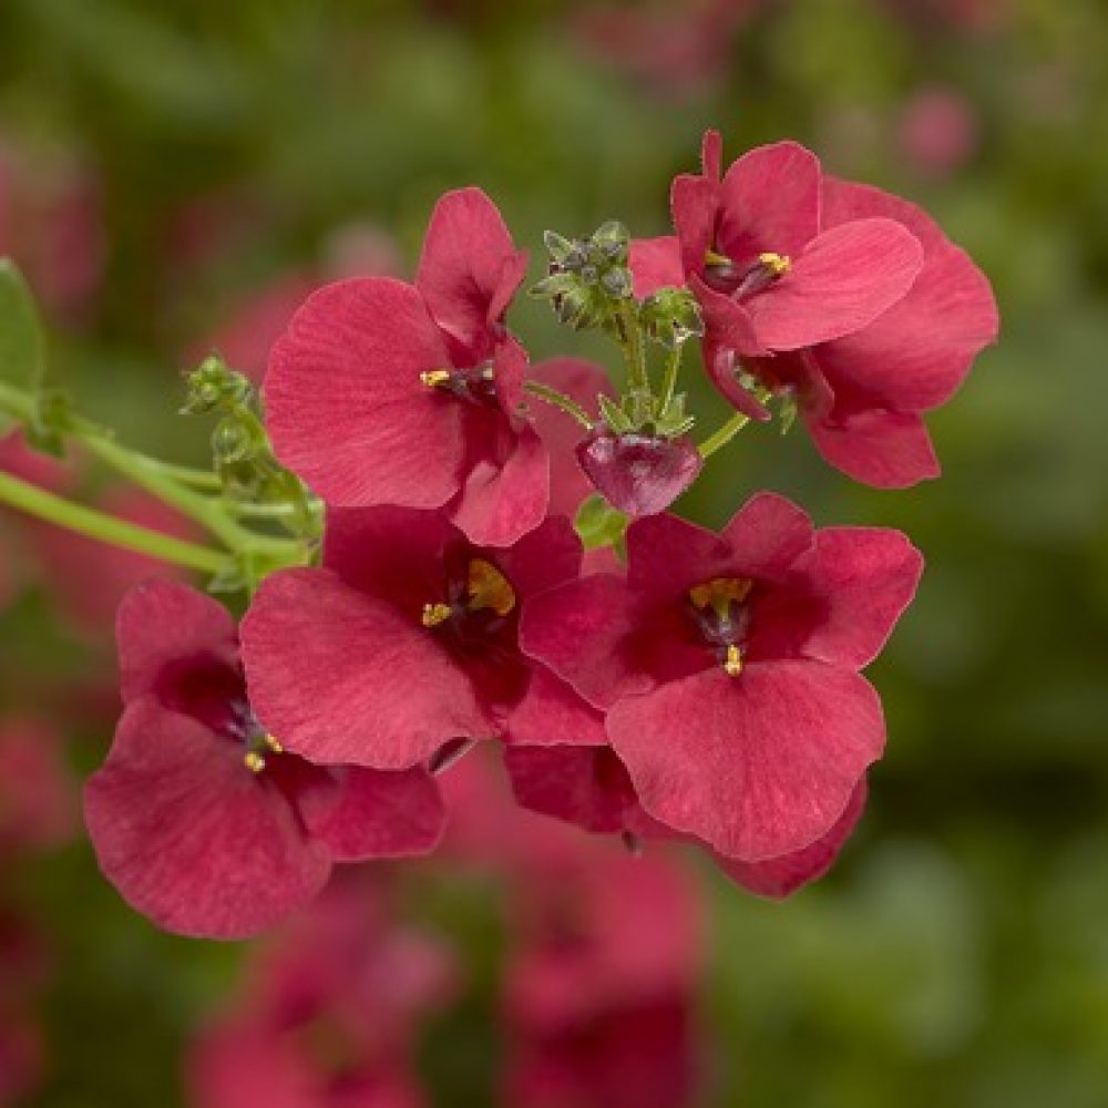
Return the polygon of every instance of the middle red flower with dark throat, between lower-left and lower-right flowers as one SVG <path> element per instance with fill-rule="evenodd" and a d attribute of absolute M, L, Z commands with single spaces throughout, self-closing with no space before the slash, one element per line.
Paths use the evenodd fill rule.
<path fill-rule="evenodd" d="M 244 622 L 250 700 L 325 763 L 439 766 L 458 740 L 509 733 L 604 742 L 599 715 L 517 643 L 527 597 L 579 566 L 563 516 L 492 548 L 441 512 L 332 510 L 322 568 L 274 574 Z"/>

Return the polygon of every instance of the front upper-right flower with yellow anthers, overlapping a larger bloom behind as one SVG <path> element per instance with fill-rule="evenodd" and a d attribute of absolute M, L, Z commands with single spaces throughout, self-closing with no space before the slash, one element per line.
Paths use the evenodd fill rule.
<path fill-rule="evenodd" d="M 893 219 L 820 222 L 819 160 L 803 146 L 759 146 L 720 177 L 719 136 L 704 173 L 674 182 L 673 213 L 688 283 L 706 324 L 712 380 L 749 398 L 733 356 L 800 350 L 864 327 L 912 287 L 921 248 Z M 752 412 L 753 413 L 753 412 Z"/>

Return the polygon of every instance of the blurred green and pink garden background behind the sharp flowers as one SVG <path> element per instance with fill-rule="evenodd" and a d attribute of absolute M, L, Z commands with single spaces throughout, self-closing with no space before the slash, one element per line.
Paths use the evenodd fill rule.
<path fill-rule="evenodd" d="M 409 275 L 443 189 L 485 188 L 536 276 L 546 227 L 618 217 L 664 233 L 669 181 L 706 126 L 729 158 L 796 137 L 832 172 L 916 201 L 996 288 L 1001 343 L 930 421 L 941 481 L 868 490 L 802 432 L 755 429 L 681 505 L 719 523 L 770 488 L 823 524 L 904 527 L 929 561 L 870 671 L 891 741 L 832 875 L 770 904 L 688 865 L 706 937 L 688 940 L 696 968 L 673 973 L 695 1091 L 683 1099 L 673 1073 L 653 1100 L 529 1099 L 523 1078 L 503 1091 L 506 1069 L 534 1060 L 505 986 L 533 936 L 455 847 L 351 894 L 371 901 L 345 911 L 373 948 L 350 964 L 392 952 L 373 1034 L 401 1042 L 407 1068 L 377 1100 L 319 1104 L 406 1106 L 422 1088 L 450 1108 L 1108 1105 L 1105 43 L 1101 0 L 0 4 L 0 254 L 34 287 L 82 410 L 178 461 L 207 449 L 174 414 L 179 370 L 214 347 L 258 375 L 314 285 Z M 536 358 L 615 365 L 544 305 L 512 322 Z M 720 407 L 694 391 L 712 425 Z M 0 464 L 179 527 L 80 458 L 7 440 Z M 353 940 L 318 920 L 270 944 L 162 935 L 99 876 L 80 828 L 78 786 L 115 711 L 112 605 L 146 570 L 0 517 L 0 1105 L 283 1108 L 264 1083 L 212 1091 L 212 1037 L 237 1018 L 245 1038 L 223 1049 L 263 1074 L 280 1051 L 242 1027 L 284 1003 L 274 960 Z M 546 864 L 492 869 L 502 891 L 519 870 L 548 891 Z M 676 912 L 673 880 L 652 895 Z M 628 891 L 612 927 L 652 917 L 648 892 Z M 370 942 L 388 929 L 397 952 Z M 558 1073 L 572 1054 L 596 1094 L 612 1076 L 597 1044 L 614 1044 L 616 1073 L 664 1054 L 676 1033 L 659 1004 L 606 1009 L 587 1044 L 558 1046 Z M 312 1057 L 335 1066 L 335 1048 Z"/>

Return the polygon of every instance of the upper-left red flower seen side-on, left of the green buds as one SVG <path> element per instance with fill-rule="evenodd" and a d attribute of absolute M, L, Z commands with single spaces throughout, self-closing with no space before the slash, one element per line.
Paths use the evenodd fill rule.
<path fill-rule="evenodd" d="M 465 188 L 435 206 L 414 285 L 317 291 L 266 375 L 277 456 L 330 504 L 445 506 L 476 543 L 541 523 L 546 450 L 520 413 L 527 360 L 503 325 L 525 268 L 492 201 Z"/>

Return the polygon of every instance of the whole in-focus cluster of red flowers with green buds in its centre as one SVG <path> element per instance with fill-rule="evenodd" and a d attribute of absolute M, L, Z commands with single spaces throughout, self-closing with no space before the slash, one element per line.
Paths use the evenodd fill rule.
<path fill-rule="evenodd" d="M 266 456 L 325 505 L 318 550 L 260 574 L 240 626 L 172 584 L 120 614 L 126 708 L 86 809 L 132 904 L 192 934 L 260 930 L 332 863 L 433 848 L 437 776 L 475 743 L 524 807 L 636 849 L 699 844 L 759 893 L 831 864 L 885 741 L 860 670 L 922 558 L 768 492 L 719 531 L 669 507 L 774 416 L 858 480 L 936 475 L 922 413 L 996 310 L 919 208 L 794 143 L 724 173 L 709 133 L 673 214 L 663 238 L 546 236 L 532 294 L 618 345 L 622 388 L 532 365 L 506 322 L 527 258 L 476 188 L 439 202 L 413 283 L 340 280 L 296 312 Z M 696 343 L 736 409 L 707 438 L 678 391 Z"/>

